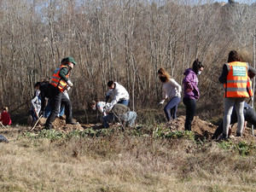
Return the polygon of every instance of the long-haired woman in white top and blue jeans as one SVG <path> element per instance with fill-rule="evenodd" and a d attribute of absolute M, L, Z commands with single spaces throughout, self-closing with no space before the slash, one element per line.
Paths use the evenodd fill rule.
<path fill-rule="evenodd" d="M 172 119 L 177 118 L 177 105 L 181 100 L 181 91 L 182 88 L 175 79 L 172 79 L 170 75 L 166 72 L 164 68 L 158 70 L 159 79 L 162 82 L 162 100 L 159 102 L 160 105 L 163 105 L 166 99 L 168 102 L 164 108 L 166 113 L 166 119 L 168 123 Z"/>

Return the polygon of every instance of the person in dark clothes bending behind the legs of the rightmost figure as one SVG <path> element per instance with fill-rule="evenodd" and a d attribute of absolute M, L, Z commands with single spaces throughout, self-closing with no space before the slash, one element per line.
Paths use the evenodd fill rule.
<path fill-rule="evenodd" d="M 231 113 L 231 117 L 230 117 L 230 125 L 232 125 L 232 126 L 237 123 L 237 114 L 236 114 L 235 108 L 236 108 L 236 106 L 234 106 L 232 113 Z M 247 121 L 251 125 L 254 125 L 254 127 L 255 127 L 256 126 L 256 113 L 255 113 L 255 110 L 251 106 L 249 106 L 249 104 L 247 102 L 244 102 L 243 114 L 244 114 L 245 121 Z M 212 139 L 218 139 L 220 137 L 220 135 L 223 132 L 223 125 L 224 124 L 223 124 L 223 119 L 222 119 L 221 122 L 218 124 L 216 131 L 214 131 L 214 133 L 212 135 Z"/>

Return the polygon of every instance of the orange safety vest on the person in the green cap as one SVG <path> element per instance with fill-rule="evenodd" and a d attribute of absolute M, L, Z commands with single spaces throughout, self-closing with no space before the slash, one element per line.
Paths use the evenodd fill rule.
<path fill-rule="evenodd" d="M 63 67 L 67 67 L 67 66 L 61 65 L 61 68 Z M 59 70 L 55 70 L 55 73 L 53 73 L 49 83 L 57 87 L 59 90 L 61 90 L 61 92 L 63 92 L 64 90 L 67 89 L 67 82 L 61 79 L 59 75 L 61 68 Z M 67 73 L 66 75 L 67 79 L 68 77 L 69 77 L 69 73 Z"/>

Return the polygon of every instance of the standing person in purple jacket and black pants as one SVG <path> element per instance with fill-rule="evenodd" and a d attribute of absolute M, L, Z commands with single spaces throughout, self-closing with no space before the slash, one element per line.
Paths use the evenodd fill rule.
<path fill-rule="evenodd" d="M 183 103 L 186 106 L 185 130 L 191 131 L 191 123 L 195 116 L 196 100 L 199 99 L 198 78 L 204 66 L 196 59 L 192 68 L 186 69 L 183 79 L 184 97 Z"/>

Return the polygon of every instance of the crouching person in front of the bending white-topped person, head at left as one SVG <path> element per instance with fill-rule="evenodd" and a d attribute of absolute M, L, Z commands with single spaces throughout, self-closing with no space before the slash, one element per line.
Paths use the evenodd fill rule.
<path fill-rule="evenodd" d="M 108 123 L 113 123 L 115 119 L 121 121 L 125 125 L 130 127 L 135 126 L 135 120 L 137 118 L 137 113 L 134 111 L 130 111 L 130 109 L 124 104 L 116 103 L 112 110 L 108 112 L 108 108 L 110 103 L 107 102 L 90 102 L 90 108 L 93 110 L 98 110 L 102 113 L 103 127 L 108 128 Z"/>

